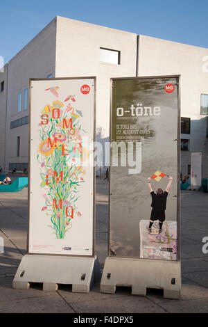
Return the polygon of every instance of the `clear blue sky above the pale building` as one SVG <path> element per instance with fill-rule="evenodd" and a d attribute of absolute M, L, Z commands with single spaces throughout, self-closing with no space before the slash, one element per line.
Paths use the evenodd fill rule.
<path fill-rule="evenodd" d="M 57 15 L 208 48 L 207 0 L 10 0 L 0 13 L 5 63 Z"/>

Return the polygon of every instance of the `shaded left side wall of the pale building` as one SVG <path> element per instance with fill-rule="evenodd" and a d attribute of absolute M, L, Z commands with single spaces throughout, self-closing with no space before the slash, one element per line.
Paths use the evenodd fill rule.
<path fill-rule="evenodd" d="M 10 122 L 29 115 L 23 109 L 24 89 L 30 78 L 55 75 L 56 19 L 47 25 L 31 42 L 8 63 L 8 108 L 6 124 L 6 170 L 9 163 L 28 162 L 28 126 L 10 129 Z M 21 112 L 17 112 L 18 93 L 21 92 Z M 29 93 L 28 93 L 29 97 Z M 20 154 L 17 157 L 17 136 Z M 0 163 L 1 164 L 1 163 Z"/>

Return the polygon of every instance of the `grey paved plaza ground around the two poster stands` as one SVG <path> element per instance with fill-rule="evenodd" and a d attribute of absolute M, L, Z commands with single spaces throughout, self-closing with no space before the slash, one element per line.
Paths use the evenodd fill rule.
<path fill-rule="evenodd" d="M 101 269 L 107 256 L 107 181 L 96 180 L 96 254 Z M 57 292 L 43 292 L 42 285 L 28 290 L 12 289 L 21 257 L 26 254 L 27 189 L 0 193 L 0 312 L 208 312 L 208 254 L 202 253 L 202 238 L 208 237 L 208 193 L 181 192 L 182 300 L 163 298 L 149 290 L 146 296 L 132 296 L 131 289 L 101 294 L 97 282 L 89 294 L 72 293 L 61 286 Z"/>

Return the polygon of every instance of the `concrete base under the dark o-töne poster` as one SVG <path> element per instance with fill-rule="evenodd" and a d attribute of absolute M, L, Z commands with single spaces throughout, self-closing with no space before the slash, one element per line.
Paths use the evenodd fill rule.
<path fill-rule="evenodd" d="M 114 294 L 116 286 L 132 287 L 132 294 L 143 296 L 147 288 L 164 289 L 164 298 L 180 299 L 180 262 L 107 257 L 101 293 Z"/>

